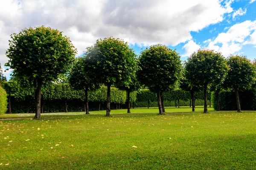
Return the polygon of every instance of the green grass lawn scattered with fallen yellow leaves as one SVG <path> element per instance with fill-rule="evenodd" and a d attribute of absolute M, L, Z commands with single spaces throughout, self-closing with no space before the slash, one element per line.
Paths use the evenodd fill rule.
<path fill-rule="evenodd" d="M 1 120 L 0 169 L 256 167 L 256 112 L 204 114 L 200 107 L 199 113 L 168 108 L 159 116 L 157 108 L 132 111 L 129 116 L 122 115 L 125 110 L 112 110 L 112 117 L 91 111 Z"/>

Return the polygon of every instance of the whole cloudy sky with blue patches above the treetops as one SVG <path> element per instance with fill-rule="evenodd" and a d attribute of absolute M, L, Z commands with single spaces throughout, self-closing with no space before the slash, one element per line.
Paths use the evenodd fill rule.
<path fill-rule="evenodd" d="M 183 60 L 199 48 L 253 60 L 255 9 L 256 0 L 0 0 L 0 64 L 5 68 L 8 61 L 10 34 L 42 25 L 63 31 L 78 55 L 97 39 L 113 36 L 137 54 L 162 43 Z"/>

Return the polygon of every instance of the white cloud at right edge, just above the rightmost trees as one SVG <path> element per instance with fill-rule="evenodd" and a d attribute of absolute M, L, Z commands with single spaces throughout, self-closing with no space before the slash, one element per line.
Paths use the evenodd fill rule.
<path fill-rule="evenodd" d="M 209 42 L 207 48 L 220 51 L 227 57 L 239 52 L 245 44 L 256 44 L 256 20 L 231 26 L 227 32 L 218 34 L 215 40 Z"/>

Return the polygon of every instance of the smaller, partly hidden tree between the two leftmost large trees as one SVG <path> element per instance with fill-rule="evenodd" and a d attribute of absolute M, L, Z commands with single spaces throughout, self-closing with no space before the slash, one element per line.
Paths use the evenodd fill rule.
<path fill-rule="evenodd" d="M 99 85 L 95 85 L 93 80 L 90 78 L 92 70 L 88 69 L 87 62 L 84 58 L 79 57 L 76 59 L 75 64 L 70 72 L 70 85 L 76 90 L 84 90 L 85 100 L 84 100 L 84 111 L 89 114 L 88 106 L 88 90 L 93 90 L 94 88 L 99 88 Z"/>

